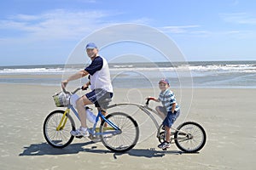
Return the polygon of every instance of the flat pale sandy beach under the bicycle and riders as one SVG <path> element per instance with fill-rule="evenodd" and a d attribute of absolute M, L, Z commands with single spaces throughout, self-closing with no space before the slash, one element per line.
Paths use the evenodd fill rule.
<path fill-rule="evenodd" d="M 132 150 L 115 154 L 90 139 L 74 139 L 66 148 L 55 149 L 44 139 L 43 123 L 49 112 L 57 109 L 52 95 L 59 91 L 58 86 L 0 84 L 1 169 L 198 170 L 256 166 L 255 88 L 193 88 L 191 99 L 181 99 L 181 90 L 174 89 L 178 91 L 177 99 L 183 103 L 183 116 L 175 123 L 198 122 L 207 132 L 207 144 L 195 154 L 183 153 L 175 144 L 166 151 L 158 149 L 154 124 L 142 111 L 128 107 L 122 111 L 131 113 L 140 125 L 140 139 Z M 142 103 L 144 97 L 156 95 L 158 91 L 117 88 L 114 93 L 112 103 Z M 183 89 L 182 93 L 186 96 L 190 89 Z M 139 94 L 139 99 L 134 94 Z"/>

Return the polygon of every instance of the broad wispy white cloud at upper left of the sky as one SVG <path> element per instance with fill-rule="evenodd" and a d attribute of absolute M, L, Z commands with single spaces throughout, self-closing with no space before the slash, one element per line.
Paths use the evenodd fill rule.
<path fill-rule="evenodd" d="M 110 15 L 113 14 L 103 11 L 73 12 L 56 9 L 38 15 L 11 16 L 7 20 L 0 20 L 0 29 L 7 33 L 20 31 L 21 37 L 75 39 L 108 25 L 103 19 Z"/>

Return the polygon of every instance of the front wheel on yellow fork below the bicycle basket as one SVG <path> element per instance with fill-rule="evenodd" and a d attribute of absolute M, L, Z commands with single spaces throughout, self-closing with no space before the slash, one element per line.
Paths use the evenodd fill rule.
<path fill-rule="evenodd" d="M 65 111 L 56 110 L 49 113 L 44 120 L 44 139 L 55 148 L 64 148 L 73 141 L 70 131 L 75 130 L 73 118 L 67 114 L 67 122 L 65 128 L 56 130 L 61 122 L 61 117 Z"/>

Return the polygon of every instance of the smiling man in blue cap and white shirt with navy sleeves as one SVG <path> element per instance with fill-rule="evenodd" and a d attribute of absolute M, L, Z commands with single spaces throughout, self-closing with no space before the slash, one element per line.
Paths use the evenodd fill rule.
<path fill-rule="evenodd" d="M 70 132 L 73 136 L 83 137 L 89 136 L 86 126 L 86 111 L 84 109 L 84 105 L 95 104 L 96 107 L 100 108 L 100 101 L 103 99 L 111 99 L 113 97 L 113 87 L 110 79 L 107 60 L 98 54 L 99 50 L 95 43 L 88 43 L 85 49 L 88 57 L 91 59 L 90 65 L 84 70 L 73 74 L 71 77 L 68 77 L 67 80 L 61 82 L 62 88 L 66 88 L 68 82 L 90 75 L 90 81 L 84 84 L 83 89 L 88 88 L 90 85 L 92 91 L 80 97 L 76 102 L 81 127 Z M 105 115 L 106 112 L 102 112 L 102 114 Z"/>

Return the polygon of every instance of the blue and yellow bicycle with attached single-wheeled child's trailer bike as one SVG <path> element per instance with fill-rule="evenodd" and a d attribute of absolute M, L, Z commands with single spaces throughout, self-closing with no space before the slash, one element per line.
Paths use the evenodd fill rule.
<path fill-rule="evenodd" d="M 63 93 L 66 94 L 67 97 L 61 96 L 63 93 L 55 94 L 54 96 L 55 105 L 58 107 L 67 106 L 67 110 L 52 111 L 44 121 L 44 138 L 53 147 L 64 148 L 74 139 L 70 134 L 70 131 L 75 130 L 75 123 L 70 115 L 70 110 L 73 111 L 78 118 L 79 115 L 71 104 L 70 99 L 80 89 L 81 88 L 77 88 L 73 93 L 67 93 L 65 92 L 65 89 L 63 89 Z M 159 124 L 153 116 L 157 115 L 157 112 L 148 106 L 150 100 L 151 99 L 148 98 L 145 105 L 136 103 L 109 105 L 110 101 L 108 100 L 105 102 L 106 105 L 104 105 L 104 109 L 111 109 L 122 105 L 137 106 L 154 122 L 154 126 L 157 129 L 156 138 L 162 143 L 165 140 L 166 132 L 163 130 L 163 125 Z M 96 127 L 100 117 L 102 117 L 102 122 L 100 127 Z M 207 133 L 197 122 L 183 122 L 177 128 L 171 128 L 171 144 L 176 144 L 177 148 L 184 152 L 198 152 L 206 144 Z M 124 112 L 113 112 L 105 117 L 102 115 L 101 110 L 99 110 L 96 116 L 96 122 L 93 127 L 88 129 L 88 131 L 90 133 L 90 139 L 100 139 L 102 144 L 104 144 L 108 150 L 112 150 L 113 152 L 125 152 L 131 150 L 137 144 L 139 138 L 139 127 L 137 122 L 129 116 L 129 114 Z"/>

